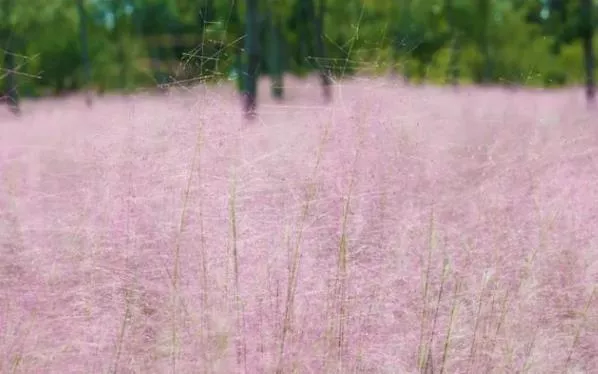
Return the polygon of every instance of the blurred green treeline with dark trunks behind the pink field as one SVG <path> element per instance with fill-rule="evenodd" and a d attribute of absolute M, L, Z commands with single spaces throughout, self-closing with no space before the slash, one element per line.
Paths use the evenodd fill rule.
<path fill-rule="evenodd" d="M 248 69 L 271 75 L 279 97 L 283 73 L 315 70 L 325 84 L 329 76 L 389 70 L 415 82 L 593 82 L 593 0 L 0 4 L 3 91 L 11 101 L 198 80 L 236 80 L 251 90 L 238 79 Z"/>

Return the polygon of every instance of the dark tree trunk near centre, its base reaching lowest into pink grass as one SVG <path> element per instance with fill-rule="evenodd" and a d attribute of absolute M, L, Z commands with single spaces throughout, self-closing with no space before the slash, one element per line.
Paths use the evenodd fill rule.
<path fill-rule="evenodd" d="M 245 33 L 247 61 L 245 63 L 244 110 L 247 118 L 254 118 L 257 107 L 257 80 L 260 63 L 257 0 L 247 0 Z"/>

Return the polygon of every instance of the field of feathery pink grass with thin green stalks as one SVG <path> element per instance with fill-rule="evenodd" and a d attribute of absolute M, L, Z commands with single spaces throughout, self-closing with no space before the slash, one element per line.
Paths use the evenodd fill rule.
<path fill-rule="evenodd" d="M 2 373 L 596 373 L 581 90 L 292 81 L 0 115 Z"/>

